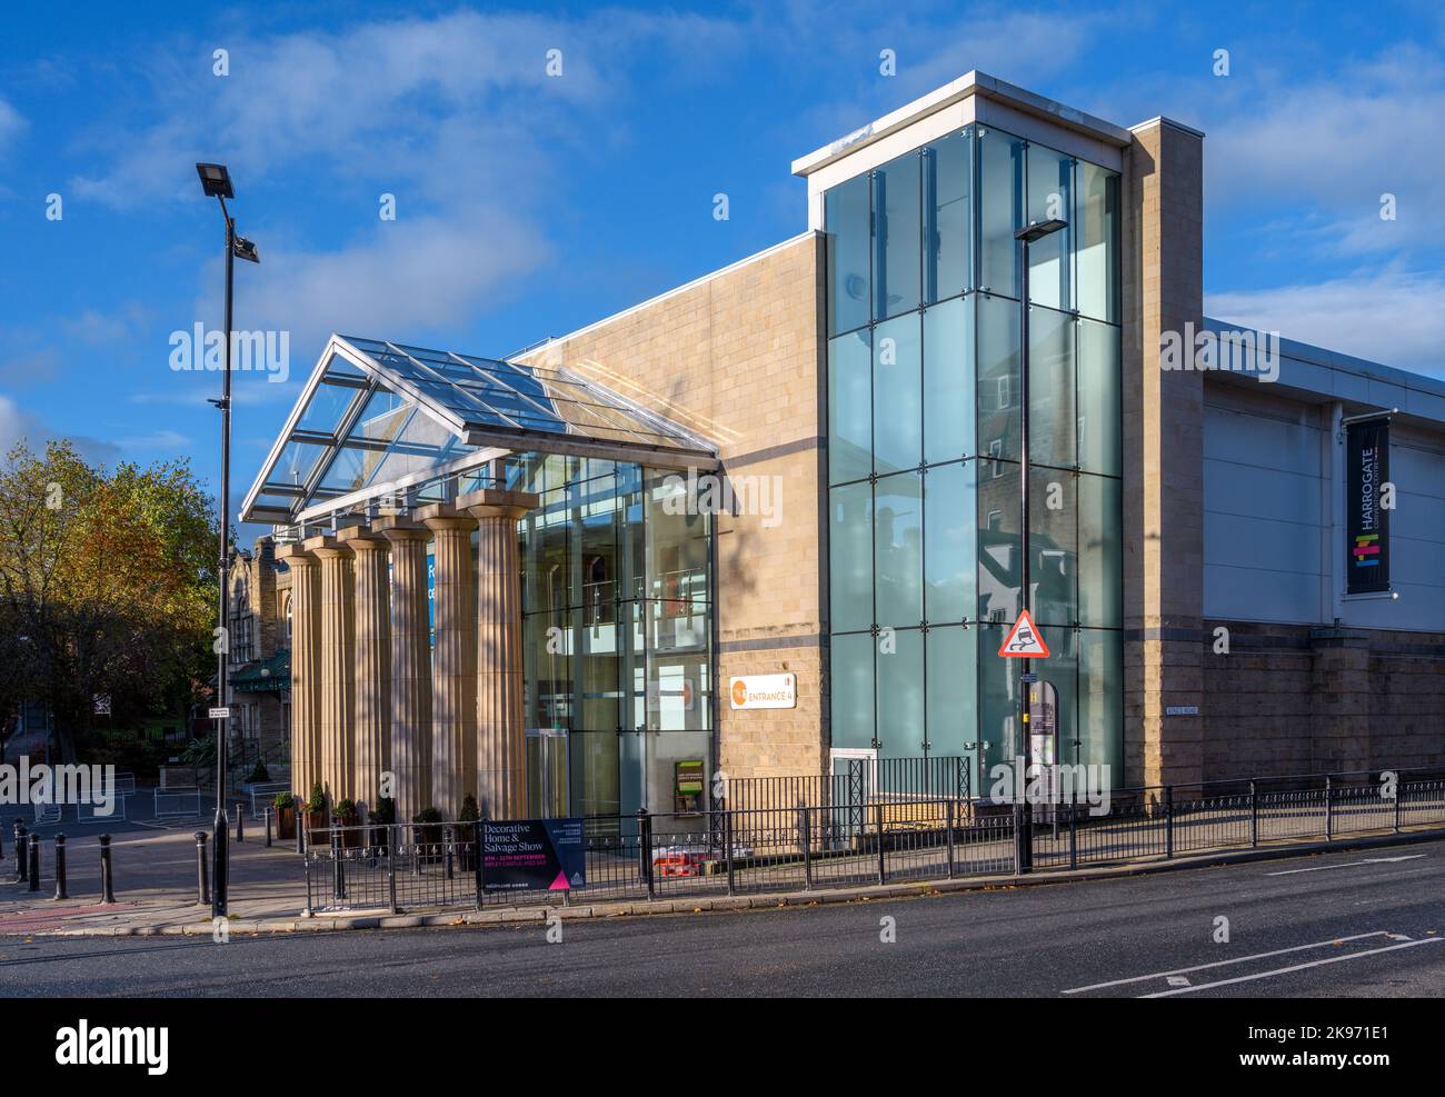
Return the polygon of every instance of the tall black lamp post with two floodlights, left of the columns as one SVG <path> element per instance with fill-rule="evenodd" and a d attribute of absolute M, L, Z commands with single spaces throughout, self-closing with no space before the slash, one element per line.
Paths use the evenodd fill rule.
<path fill-rule="evenodd" d="M 221 410 L 221 558 L 218 575 L 221 584 L 220 597 L 220 627 L 224 643 L 217 655 L 215 668 L 215 704 L 225 710 L 228 702 L 227 663 L 231 658 L 230 645 L 230 512 L 231 512 L 231 296 L 236 282 L 236 260 L 246 259 L 251 263 L 260 262 L 260 254 L 246 237 L 236 234 L 236 221 L 225 210 L 225 199 L 234 198 L 231 188 L 231 173 L 224 163 L 198 163 L 197 173 L 201 176 L 201 189 L 207 198 L 221 202 L 221 218 L 225 221 L 225 366 L 221 371 L 221 399 L 211 400 Z M 230 821 L 225 817 L 225 730 L 228 717 L 215 720 L 215 834 L 211 841 L 211 916 L 225 918 L 225 900 L 228 892 L 228 861 L 230 848 L 227 846 L 227 831 Z"/>

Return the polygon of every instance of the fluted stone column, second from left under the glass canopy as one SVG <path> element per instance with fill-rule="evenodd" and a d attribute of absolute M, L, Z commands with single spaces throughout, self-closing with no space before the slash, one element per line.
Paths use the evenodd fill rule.
<path fill-rule="evenodd" d="M 332 538 L 311 538 L 303 545 L 321 559 L 321 783 L 328 802 L 335 804 L 355 798 L 355 577 L 351 554 Z"/>

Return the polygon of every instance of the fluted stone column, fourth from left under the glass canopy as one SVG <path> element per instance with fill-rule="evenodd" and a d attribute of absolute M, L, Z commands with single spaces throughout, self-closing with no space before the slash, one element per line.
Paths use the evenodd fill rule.
<path fill-rule="evenodd" d="M 376 522 L 392 546 L 392 772 L 396 818 L 409 822 L 432 802 L 432 639 L 423 526 Z"/>

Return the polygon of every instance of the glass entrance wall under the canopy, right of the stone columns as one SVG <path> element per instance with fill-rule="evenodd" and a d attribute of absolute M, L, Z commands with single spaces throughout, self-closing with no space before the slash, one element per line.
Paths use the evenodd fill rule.
<path fill-rule="evenodd" d="M 566 743 L 552 801 L 673 812 L 678 763 L 711 769 L 709 519 L 685 477 L 636 464 L 536 454 L 509 481 L 540 496 L 520 523 L 525 705 L 529 747 Z"/>

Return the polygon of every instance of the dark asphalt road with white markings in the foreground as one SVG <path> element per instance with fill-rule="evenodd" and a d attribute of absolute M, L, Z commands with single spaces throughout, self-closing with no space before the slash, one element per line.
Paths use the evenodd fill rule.
<path fill-rule="evenodd" d="M 1228 919 L 1228 941 L 1215 941 Z M 894 942 L 884 942 L 893 919 Z M 1445 843 L 767 912 L 211 941 L 0 938 L 4 996 L 1445 993 Z"/>

